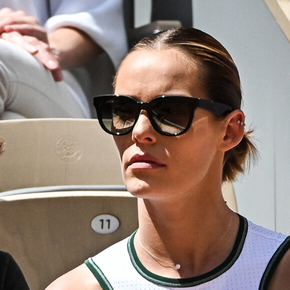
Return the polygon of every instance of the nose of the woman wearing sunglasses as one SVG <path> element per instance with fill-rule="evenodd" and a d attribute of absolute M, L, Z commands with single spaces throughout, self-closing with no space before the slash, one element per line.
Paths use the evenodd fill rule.
<path fill-rule="evenodd" d="M 157 132 L 151 125 L 148 113 L 141 110 L 136 124 L 132 131 L 132 140 L 134 142 L 153 143 L 156 141 Z"/>

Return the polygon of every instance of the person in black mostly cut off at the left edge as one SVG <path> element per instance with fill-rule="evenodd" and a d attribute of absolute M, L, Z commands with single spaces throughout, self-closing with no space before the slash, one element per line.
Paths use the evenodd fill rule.
<path fill-rule="evenodd" d="M 0 138 L 0 154 L 3 152 L 4 141 Z M 13 257 L 0 250 L 0 290 L 29 290 L 21 269 Z"/>

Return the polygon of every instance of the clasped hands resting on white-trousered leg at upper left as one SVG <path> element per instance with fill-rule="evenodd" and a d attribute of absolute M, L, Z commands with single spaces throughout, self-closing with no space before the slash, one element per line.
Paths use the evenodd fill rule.
<path fill-rule="evenodd" d="M 46 30 L 38 21 L 23 11 L 0 9 L 0 35 L 34 55 L 55 81 L 63 79 L 57 51 L 49 46 Z"/>

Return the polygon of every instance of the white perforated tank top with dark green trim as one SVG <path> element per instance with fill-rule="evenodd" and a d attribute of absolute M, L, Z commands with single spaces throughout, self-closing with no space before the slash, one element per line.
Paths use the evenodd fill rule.
<path fill-rule="evenodd" d="M 290 237 L 255 225 L 239 215 L 240 224 L 228 257 L 213 270 L 191 278 L 166 278 L 148 271 L 128 238 L 87 259 L 86 265 L 105 289 L 266 289 Z"/>

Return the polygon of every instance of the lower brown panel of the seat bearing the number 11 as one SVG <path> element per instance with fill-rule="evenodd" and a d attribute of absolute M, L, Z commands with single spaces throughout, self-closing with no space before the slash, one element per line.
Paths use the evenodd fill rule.
<path fill-rule="evenodd" d="M 137 198 L 127 191 L 73 191 L 0 196 L 0 245 L 31 290 L 44 289 L 138 226 Z M 105 214 L 105 215 L 103 215 Z M 98 232 L 91 227 L 91 222 Z M 119 227 L 112 233 L 106 233 Z"/>

